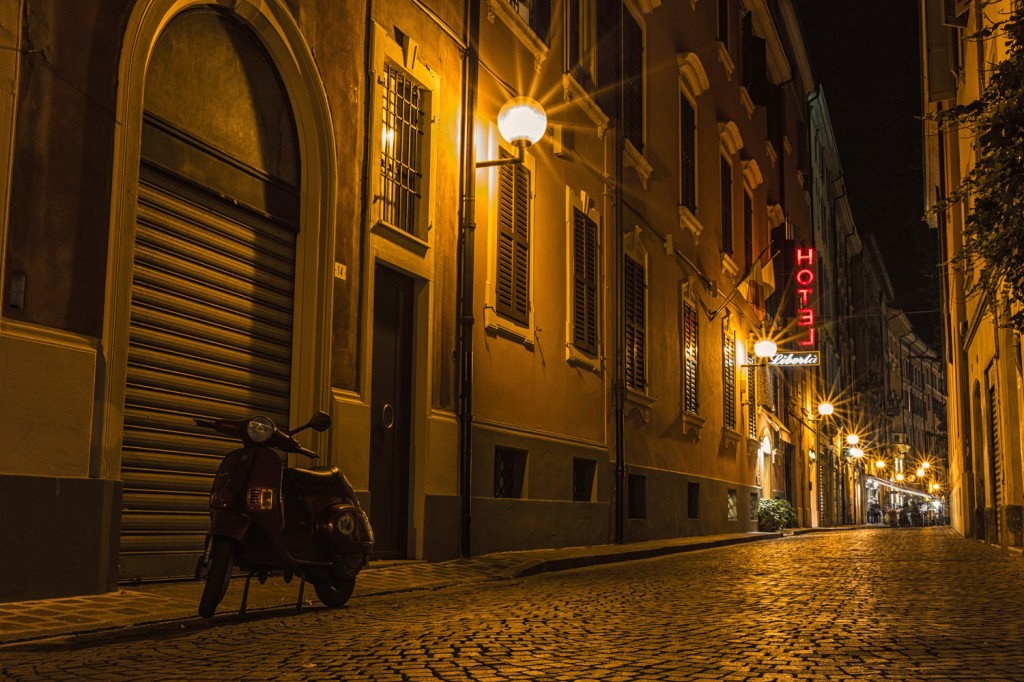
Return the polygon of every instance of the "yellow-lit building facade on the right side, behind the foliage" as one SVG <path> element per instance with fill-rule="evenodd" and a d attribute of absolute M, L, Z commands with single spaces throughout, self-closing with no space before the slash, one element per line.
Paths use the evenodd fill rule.
<path fill-rule="evenodd" d="M 1009 16 L 1015 3 L 923 0 L 921 8 L 926 114 L 976 100 L 988 84 L 991 65 L 1007 57 L 995 23 Z M 924 194 L 930 208 L 958 186 L 976 148 L 970 131 L 940 128 L 934 120 L 926 121 L 925 139 Z M 956 205 L 931 217 L 944 263 L 950 522 L 967 537 L 1020 547 L 1020 335 L 1000 324 L 1007 304 L 968 295 L 974 272 L 949 264 L 965 243 L 969 209 Z"/>

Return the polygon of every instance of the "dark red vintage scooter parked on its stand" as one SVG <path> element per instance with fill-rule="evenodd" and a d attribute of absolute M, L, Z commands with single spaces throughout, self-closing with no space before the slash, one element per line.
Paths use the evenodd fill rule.
<path fill-rule="evenodd" d="M 268 417 L 197 417 L 195 422 L 243 442 L 224 457 L 210 492 L 210 532 L 196 566 L 197 580 L 206 580 L 199 614 L 213 617 L 227 592 L 232 565 L 248 572 L 242 613 L 252 578 L 263 584 L 271 571 L 281 571 L 286 583 L 294 576 L 301 579 L 299 608 L 307 581 L 325 605 L 344 605 L 373 551 L 370 520 L 339 469 L 299 469 L 282 459 L 283 453 L 317 459 L 295 435 L 307 428 L 329 429 L 331 416 L 318 412 L 292 431 L 282 430 Z"/>

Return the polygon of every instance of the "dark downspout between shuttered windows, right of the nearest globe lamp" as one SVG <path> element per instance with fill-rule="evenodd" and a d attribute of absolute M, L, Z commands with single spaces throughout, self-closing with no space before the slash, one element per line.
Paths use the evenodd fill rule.
<path fill-rule="evenodd" d="M 615 306 L 615 334 L 612 355 L 614 356 L 614 374 L 611 379 L 612 391 L 612 412 L 614 414 L 615 428 L 615 544 L 626 542 L 625 538 L 625 515 L 626 515 L 626 306 L 624 304 L 624 281 L 626 279 L 626 244 L 623 230 L 623 117 L 626 114 L 625 76 L 623 69 L 624 44 L 623 44 L 623 23 L 625 22 L 626 3 L 618 3 L 618 18 L 615 22 L 615 41 L 617 48 L 616 68 L 617 85 L 615 86 L 615 242 L 612 257 L 615 265 L 614 281 L 614 306 Z"/>

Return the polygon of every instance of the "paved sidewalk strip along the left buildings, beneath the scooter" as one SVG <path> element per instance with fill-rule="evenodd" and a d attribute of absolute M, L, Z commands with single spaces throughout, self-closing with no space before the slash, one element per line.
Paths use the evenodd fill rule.
<path fill-rule="evenodd" d="M 859 526 L 863 527 L 863 526 Z M 822 528 L 824 529 L 824 528 Z M 810 529 L 787 530 L 785 535 Z M 815 528 L 814 530 L 818 530 Z M 677 552 L 691 552 L 737 543 L 781 538 L 781 532 L 738 532 L 724 536 L 677 538 L 629 545 L 599 545 L 565 549 L 500 552 L 438 563 L 424 561 L 373 562 L 359 573 L 348 607 L 360 598 L 414 590 L 437 590 L 453 585 L 513 580 L 546 571 L 566 570 L 614 561 L 632 561 Z M 264 585 L 252 581 L 248 614 L 239 615 L 245 581 L 236 579 L 217 609 L 216 620 L 259 617 L 273 611 L 295 612 L 298 580 L 290 585 L 281 577 Z M 196 581 L 125 587 L 108 594 L 0 603 L 0 647 L 52 637 L 121 632 L 128 628 L 186 629 L 206 623 L 196 609 L 203 584 Z M 302 608 L 323 608 L 311 585 L 306 585 Z"/>

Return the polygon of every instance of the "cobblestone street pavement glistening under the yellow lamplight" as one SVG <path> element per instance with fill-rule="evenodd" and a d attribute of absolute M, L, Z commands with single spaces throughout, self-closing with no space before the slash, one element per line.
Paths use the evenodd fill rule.
<path fill-rule="evenodd" d="M 4 680 L 1024 680 L 1024 560 L 863 529 L 0 647 Z"/>

